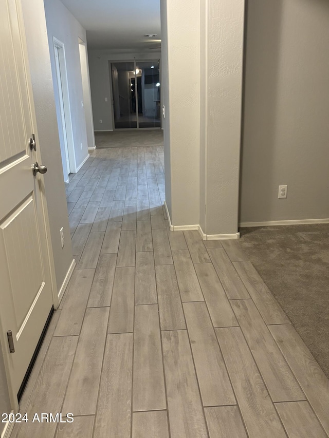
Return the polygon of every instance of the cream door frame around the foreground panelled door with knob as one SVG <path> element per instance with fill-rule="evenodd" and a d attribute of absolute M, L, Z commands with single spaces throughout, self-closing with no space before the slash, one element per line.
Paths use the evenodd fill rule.
<path fill-rule="evenodd" d="M 28 93 L 28 99 L 29 99 L 29 107 L 30 107 L 30 115 L 31 115 L 31 122 L 32 127 L 34 131 L 35 136 L 35 142 L 36 142 L 36 159 L 39 163 L 42 163 L 42 153 L 40 148 L 40 142 L 39 142 L 39 136 L 38 136 L 38 126 L 36 124 L 36 114 L 35 114 L 35 107 L 34 107 L 34 98 L 33 98 L 33 88 L 32 88 L 32 81 L 30 76 L 30 70 L 29 70 L 29 58 L 28 58 L 28 50 L 27 50 L 27 43 L 25 39 L 25 24 L 24 24 L 24 17 L 23 17 L 23 9 L 21 1 L 16 1 L 16 11 L 17 11 L 17 20 L 19 23 L 19 29 L 20 29 L 20 40 L 21 40 L 21 49 L 22 49 L 22 55 L 23 55 L 23 64 L 24 64 L 24 73 L 26 77 L 26 84 L 27 84 L 27 93 Z M 41 209 L 42 209 L 42 216 L 43 221 L 45 225 L 45 247 L 47 251 L 47 260 L 45 262 L 48 263 L 49 266 L 49 273 L 50 273 L 50 287 L 51 287 L 51 293 L 52 293 L 52 302 L 54 309 L 57 309 L 59 306 L 59 299 L 58 299 L 58 287 L 57 287 L 57 281 L 56 281 L 56 270 L 55 270 L 55 264 L 54 264 L 54 258 L 53 258 L 53 250 L 52 250 L 52 243 L 51 243 L 51 234 L 50 234 L 50 221 L 49 221 L 49 215 L 48 215 L 48 208 L 47 208 L 47 200 L 44 190 L 44 176 L 39 175 L 38 177 L 40 184 L 41 184 L 41 190 L 40 190 L 40 199 L 41 199 Z M 49 309 L 50 311 L 50 309 Z M 46 323 L 46 321 L 45 321 Z M 16 413 L 19 412 L 19 403 L 17 399 L 17 394 L 14 391 L 11 378 L 10 378 L 10 371 L 9 371 L 9 360 L 10 357 L 8 355 L 8 339 L 5 335 L 5 333 L 0 330 L 0 349 L 3 354 L 4 359 L 4 365 L 5 365 L 5 373 L 6 373 L 6 381 L 7 381 L 7 387 L 8 387 L 8 393 L 9 393 L 9 400 L 10 400 L 10 406 L 12 409 L 12 412 Z M 7 423 L 7 428 L 5 428 L 5 432 L 8 433 L 9 430 L 11 430 L 11 427 L 13 427 L 13 423 Z M 4 431 L 3 431 L 4 433 Z"/>

